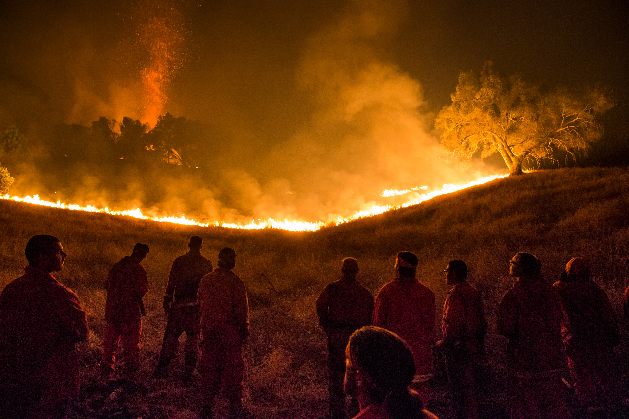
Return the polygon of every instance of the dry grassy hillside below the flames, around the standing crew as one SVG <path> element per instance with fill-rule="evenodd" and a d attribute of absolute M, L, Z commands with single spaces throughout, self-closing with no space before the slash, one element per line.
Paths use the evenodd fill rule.
<path fill-rule="evenodd" d="M 551 282 L 572 257 L 589 258 L 594 280 L 607 291 L 620 318 L 621 293 L 629 285 L 624 263 L 629 256 L 628 192 L 626 169 L 537 171 L 314 233 L 177 226 L 0 201 L 0 288 L 21 275 L 28 237 L 53 234 L 61 239 L 69 256 L 57 278 L 77 292 L 93 332 L 89 342 L 80 346 L 86 391 L 71 406 L 70 417 L 104 418 L 115 410 L 100 409 L 106 391 L 94 386 L 104 328 L 105 294 L 100 287 L 108 268 L 130 254 L 135 242 L 148 243 L 151 251 L 143 264 L 151 288 L 145 298 L 145 362 L 140 372 L 145 391 L 129 396 L 123 405 L 143 418 L 196 418 L 199 393 L 179 382 L 179 361 L 174 362 L 172 378 L 150 378 L 165 325 L 162 295 L 170 264 L 185 253 L 190 236 L 204 238 L 201 253 L 214 263 L 218 251 L 230 246 L 237 251 L 235 271 L 247 285 L 251 305 L 245 402 L 260 418 L 320 418 L 327 410 L 325 335 L 316 326 L 314 301 L 325 283 L 340 277 L 340 259 L 358 258 L 358 279 L 376 295 L 392 278 L 395 254 L 413 251 L 420 259 L 418 278 L 435 292 L 438 306 L 447 292 L 443 269 L 451 259 L 463 259 L 470 268 L 470 282 L 484 295 L 490 323 L 482 403 L 486 417 L 501 417 L 506 340 L 496 332 L 494 312 L 513 284 L 508 277 L 509 258 L 518 251 L 536 254 Z M 286 293 L 267 290 L 268 283 L 259 273 Z M 629 340 L 622 318 L 621 330 L 616 358 L 627 388 Z M 439 332 L 437 324 L 435 339 Z M 453 417 L 442 376 L 431 384 L 431 410 L 442 419 Z M 219 406 L 225 409 L 226 403 Z"/>

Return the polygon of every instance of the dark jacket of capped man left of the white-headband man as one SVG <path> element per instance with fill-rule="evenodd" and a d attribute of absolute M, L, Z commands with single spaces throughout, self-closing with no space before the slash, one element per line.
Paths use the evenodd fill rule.
<path fill-rule="evenodd" d="M 374 296 L 351 276 L 326 285 L 316 299 L 319 324 L 329 334 L 331 329 L 353 332 L 371 324 Z"/>

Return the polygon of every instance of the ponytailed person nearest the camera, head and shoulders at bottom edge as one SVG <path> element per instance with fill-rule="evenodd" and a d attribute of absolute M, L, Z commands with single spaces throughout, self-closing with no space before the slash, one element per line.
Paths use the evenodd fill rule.
<path fill-rule="evenodd" d="M 345 349 L 345 393 L 357 398 L 353 419 L 438 419 L 410 389 L 415 377 L 411 348 L 389 330 L 364 326 Z"/>

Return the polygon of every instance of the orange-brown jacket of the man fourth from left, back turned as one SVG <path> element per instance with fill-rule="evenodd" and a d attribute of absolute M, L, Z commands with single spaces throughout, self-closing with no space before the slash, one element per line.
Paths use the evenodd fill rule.
<path fill-rule="evenodd" d="M 203 339 L 235 343 L 249 335 L 245 283 L 230 269 L 216 268 L 201 279 L 197 305 Z"/>

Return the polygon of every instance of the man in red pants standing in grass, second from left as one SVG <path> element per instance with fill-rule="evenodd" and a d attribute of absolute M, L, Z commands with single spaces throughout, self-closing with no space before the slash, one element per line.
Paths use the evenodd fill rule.
<path fill-rule="evenodd" d="M 148 291 L 147 271 L 142 266 L 142 261 L 147 254 L 148 246 L 137 243 L 131 256 L 120 259 L 107 274 L 104 285 L 107 302 L 101 358 L 102 379 L 108 379 L 114 372 L 114 352 L 120 342 L 125 348 L 123 376 L 135 379 L 136 371 L 140 367 L 142 317 L 147 315 L 142 297 Z"/>

